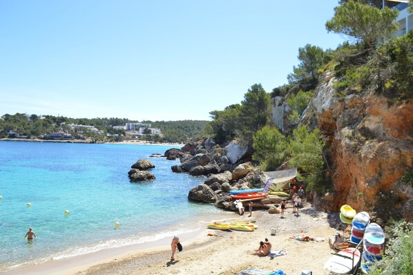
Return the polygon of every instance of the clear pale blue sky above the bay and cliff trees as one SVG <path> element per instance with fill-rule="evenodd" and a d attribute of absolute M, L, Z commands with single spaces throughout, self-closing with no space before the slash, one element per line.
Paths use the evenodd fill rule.
<path fill-rule="evenodd" d="M 336 48 L 334 0 L 0 1 L 0 115 L 209 120 Z"/>

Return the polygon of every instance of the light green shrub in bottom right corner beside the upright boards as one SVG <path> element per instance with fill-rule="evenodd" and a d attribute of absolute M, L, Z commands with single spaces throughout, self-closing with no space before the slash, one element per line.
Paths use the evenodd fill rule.
<path fill-rule="evenodd" d="M 372 275 L 413 274 L 413 230 L 412 224 L 400 222 L 392 229 L 393 237 L 387 242 L 383 260 L 369 269 Z"/>

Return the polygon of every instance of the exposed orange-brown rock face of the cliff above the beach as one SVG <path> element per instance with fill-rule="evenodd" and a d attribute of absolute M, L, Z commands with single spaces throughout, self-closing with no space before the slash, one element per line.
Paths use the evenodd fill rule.
<path fill-rule="evenodd" d="M 413 167 L 413 102 L 367 92 L 338 96 L 335 81 L 324 75 L 300 122 L 318 127 L 327 144 L 332 192 L 314 199 L 327 211 L 348 204 L 401 218 L 403 205 L 412 211 L 406 202 L 413 200 L 413 188 L 401 178 Z"/>

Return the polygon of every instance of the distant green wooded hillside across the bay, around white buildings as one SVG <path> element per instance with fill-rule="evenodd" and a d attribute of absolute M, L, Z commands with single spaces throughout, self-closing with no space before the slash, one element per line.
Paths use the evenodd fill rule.
<path fill-rule="evenodd" d="M 52 115 L 39 117 L 35 114 L 26 115 L 23 113 L 16 113 L 15 115 L 5 114 L 0 118 L 0 138 L 10 137 L 10 132 L 20 138 L 44 138 L 44 134 L 62 131 L 70 133 L 73 135 L 73 138 L 80 133 L 84 138 L 90 138 L 97 142 L 110 142 L 117 140 L 117 135 L 125 135 L 124 130 L 113 129 L 113 126 L 125 126 L 126 122 L 137 121 L 117 117 L 88 119 L 55 117 Z M 170 122 L 146 121 L 144 123 L 151 123 L 153 128 L 161 129 L 162 132 L 162 137 L 159 135 L 145 135 L 144 140 L 184 143 L 199 138 L 208 122 L 206 120 L 181 120 Z M 96 129 L 102 132 L 97 133 L 87 129 L 73 130 L 70 129 L 68 124 L 95 126 Z"/>

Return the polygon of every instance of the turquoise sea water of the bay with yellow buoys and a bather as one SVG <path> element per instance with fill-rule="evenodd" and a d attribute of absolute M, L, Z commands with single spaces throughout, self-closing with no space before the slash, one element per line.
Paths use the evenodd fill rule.
<path fill-rule="evenodd" d="M 129 182 L 133 163 L 169 148 L 0 142 L 0 272 L 179 234 L 190 230 L 185 220 L 216 213 L 187 200 L 204 178 L 173 173 L 179 161 L 150 158 L 156 180 Z"/>

